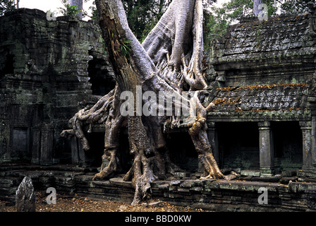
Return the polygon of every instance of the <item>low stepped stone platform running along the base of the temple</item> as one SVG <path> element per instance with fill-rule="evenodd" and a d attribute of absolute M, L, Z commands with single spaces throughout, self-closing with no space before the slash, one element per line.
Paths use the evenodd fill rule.
<path fill-rule="evenodd" d="M 25 169 L 19 168 L 20 171 L 13 172 L 12 169 L 1 169 L 0 172 L 11 177 L 12 180 L 20 178 L 25 174 Z M 74 168 L 75 169 L 75 168 Z M 69 169 L 71 170 L 71 169 Z M 41 171 L 41 170 L 39 170 Z M 49 170 L 48 167 L 42 168 L 42 179 L 37 181 L 40 191 L 46 191 L 47 180 L 51 178 L 51 184 L 58 188 L 59 193 L 68 196 L 87 196 L 90 198 L 102 198 L 115 201 L 123 201 L 130 203 L 133 200 L 133 188 L 121 184 L 121 179 L 116 179 L 113 183 L 109 181 L 92 182 L 92 176 L 82 173 L 73 174 L 75 183 L 64 184 L 59 179 L 61 174 L 68 174 L 56 170 Z M 47 173 L 49 172 L 49 173 Z M 73 170 L 69 171 L 71 174 Z M 13 177 L 14 176 L 14 177 Z M 253 177 L 253 179 L 260 177 Z M 169 178 L 170 179 L 170 178 Z M 200 206 L 208 210 L 215 211 L 307 211 L 315 210 L 315 182 L 290 182 L 289 184 L 281 184 L 278 182 L 252 182 L 245 181 L 241 178 L 239 181 L 224 181 L 224 180 L 196 180 L 188 179 L 189 187 L 181 186 L 186 180 L 181 180 L 181 183 L 169 186 L 166 184 L 170 180 L 153 182 L 158 186 L 152 187 L 152 197 L 160 201 L 168 201 L 181 206 Z M 308 178 L 305 178 L 306 180 Z M 3 183 L 2 183 L 3 181 Z M 198 182 L 197 182 L 198 181 Z M 0 177 L 0 191 L 8 190 L 7 178 Z M 35 182 L 34 182 L 35 183 Z M 3 184 L 3 185 L 1 185 Z M 16 187 L 15 183 L 9 183 L 11 188 Z M 3 186 L 3 187 L 2 187 Z M 166 188 L 171 189 L 166 189 Z M 268 205 L 260 205 L 258 203 L 258 189 L 266 188 L 268 191 Z M 16 189 L 15 189 L 16 190 Z M 7 194 L 11 196 L 10 194 Z M 15 194 L 12 194 L 15 196 Z M 0 193 L 1 201 L 3 200 Z M 155 203 L 159 205 L 159 203 Z"/>

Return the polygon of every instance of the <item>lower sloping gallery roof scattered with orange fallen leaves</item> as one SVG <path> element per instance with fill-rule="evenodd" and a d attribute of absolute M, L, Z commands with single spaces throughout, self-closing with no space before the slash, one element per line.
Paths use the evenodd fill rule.
<path fill-rule="evenodd" d="M 302 112 L 307 107 L 308 87 L 293 85 L 249 85 L 217 88 L 217 112 L 286 111 Z"/>

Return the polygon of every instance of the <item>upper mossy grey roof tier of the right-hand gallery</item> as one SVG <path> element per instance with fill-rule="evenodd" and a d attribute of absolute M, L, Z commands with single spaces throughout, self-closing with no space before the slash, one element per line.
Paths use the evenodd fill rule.
<path fill-rule="evenodd" d="M 224 40 L 217 40 L 221 45 L 214 46 L 215 69 L 253 68 L 257 73 L 259 69 L 269 70 L 267 66 L 279 70 L 294 62 L 300 66 L 306 65 L 301 56 L 304 59 L 312 57 L 311 48 L 315 43 L 310 38 L 310 20 L 311 15 L 307 13 L 296 17 L 283 15 L 264 22 L 251 18 L 231 25 Z M 293 56 L 298 57 L 291 58 Z"/>

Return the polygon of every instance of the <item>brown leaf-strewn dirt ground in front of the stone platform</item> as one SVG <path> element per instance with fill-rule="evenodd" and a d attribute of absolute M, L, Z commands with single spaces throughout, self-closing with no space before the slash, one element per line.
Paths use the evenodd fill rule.
<path fill-rule="evenodd" d="M 151 200 L 136 206 L 120 203 L 117 201 L 96 201 L 85 197 L 57 197 L 56 204 L 49 205 L 46 196 L 37 194 L 37 212 L 207 212 L 200 208 L 190 206 L 174 206 L 170 203 Z M 8 205 L 5 201 L 0 201 L 0 212 L 16 212 L 15 206 Z"/>

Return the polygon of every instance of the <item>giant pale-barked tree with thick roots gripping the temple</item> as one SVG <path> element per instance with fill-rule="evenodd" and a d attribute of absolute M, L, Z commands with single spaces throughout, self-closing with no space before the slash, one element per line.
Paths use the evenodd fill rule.
<path fill-rule="evenodd" d="M 170 160 L 172 150 L 166 150 L 164 136 L 166 128 L 180 125 L 183 115 L 178 114 L 178 109 L 188 113 L 183 121 L 205 168 L 205 177 L 201 179 L 236 177 L 233 172 L 222 174 L 214 160 L 206 124 L 207 112 L 214 104 L 204 106 L 199 99 L 207 88 L 202 73 L 202 0 L 172 1 L 142 44 L 128 27 L 121 0 L 96 0 L 96 4 L 116 88 L 91 109 L 75 114 L 71 119 L 73 129 L 62 133 L 77 136 L 83 149 L 89 151 L 83 126 L 90 124 L 91 131 L 92 124 L 105 125 L 102 158 L 109 163 L 102 164 L 101 172 L 93 179 L 106 179 L 119 169 L 119 136 L 126 127 L 133 165 L 123 179 L 131 181 L 135 188 L 134 204 L 150 196 L 154 179 L 178 170 Z M 155 95 L 159 102 L 152 101 Z M 130 102 L 133 97 L 140 101 Z"/>

